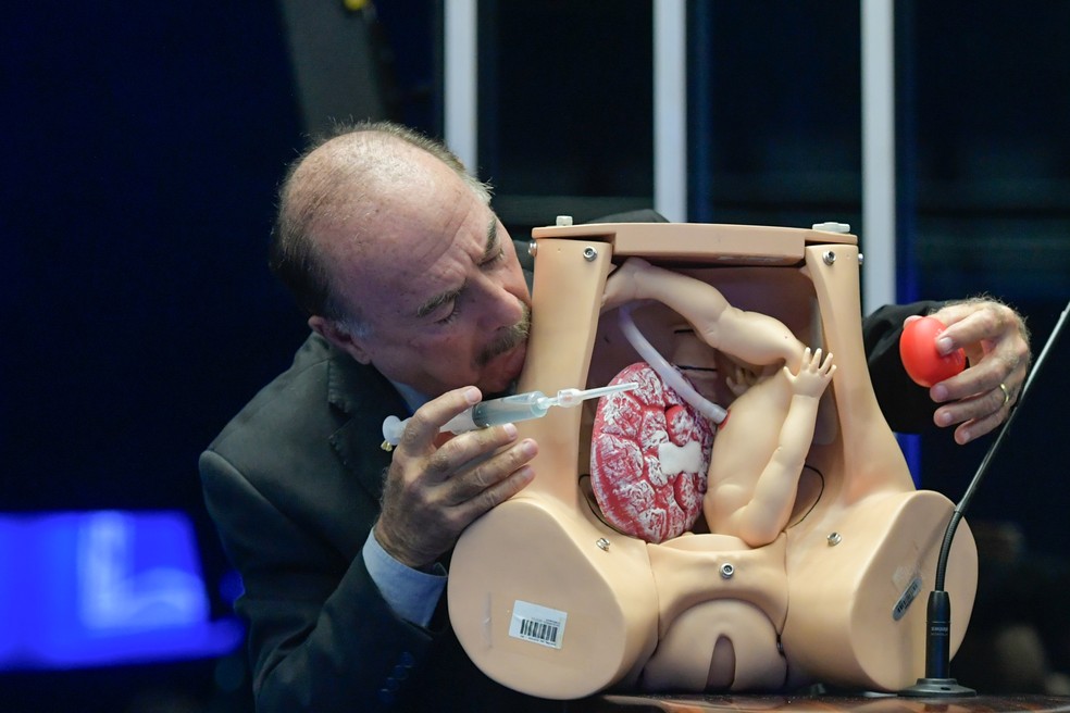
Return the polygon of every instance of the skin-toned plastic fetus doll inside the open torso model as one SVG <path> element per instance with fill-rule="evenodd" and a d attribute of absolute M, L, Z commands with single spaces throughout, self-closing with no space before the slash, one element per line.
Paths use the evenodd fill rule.
<path fill-rule="evenodd" d="M 766 367 L 721 424 L 704 509 L 712 531 L 750 547 L 770 543 L 795 503 L 818 402 L 835 373 L 831 354 L 822 359 L 820 348 L 805 347 L 783 323 L 733 307 L 708 283 L 631 259 L 610 280 L 604 307 L 636 299 L 667 304 L 708 347 Z"/>

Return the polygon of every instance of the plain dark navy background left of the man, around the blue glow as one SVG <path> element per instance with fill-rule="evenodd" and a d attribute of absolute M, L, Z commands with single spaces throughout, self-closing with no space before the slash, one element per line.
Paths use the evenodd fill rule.
<path fill-rule="evenodd" d="M 279 20 L 250 1 L 20 3 L 0 33 L 0 510 L 182 509 L 223 615 L 197 455 L 304 333 L 265 267 L 301 134 Z M 0 674 L 0 699 L 244 710 L 228 665 L 223 687 L 217 662 Z"/>

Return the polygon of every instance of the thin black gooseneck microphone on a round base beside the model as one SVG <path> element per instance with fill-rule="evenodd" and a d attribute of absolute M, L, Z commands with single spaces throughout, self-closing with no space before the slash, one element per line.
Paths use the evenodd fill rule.
<path fill-rule="evenodd" d="M 929 610 L 926 614 L 926 626 L 929 629 L 925 634 L 925 675 L 919 678 L 918 683 L 913 686 L 900 690 L 899 696 L 907 698 L 965 698 L 978 695 L 972 688 L 960 686 L 950 676 L 951 601 L 944 590 L 944 579 L 947 574 L 947 558 L 951 550 L 951 540 L 955 538 L 955 530 L 958 528 L 962 515 L 970 504 L 970 500 L 973 499 L 973 495 L 976 492 L 985 471 L 988 470 L 988 463 L 992 462 L 993 454 L 999 449 L 1004 436 L 1010 430 L 1011 423 L 1013 423 L 1015 417 L 1025 402 L 1025 397 L 1029 393 L 1030 386 L 1033 384 L 1033 378 L 1040 373 L 1048 351 L 1050 351 L 1052 346 L 1062 332 L 1062 325 L 1066 323 L 1068 314 L 1070 314 L 1070 303 L 1062 310 L 1059 321 L 1044 343 L 1044 349 L 1041 350 L 1041 355 L 1036 358 L 1036 363 L 1033 364 L 1032 371 L 1025 378 L 1025 384 L 1018 395 L 1018 402 L 1011 406 L 1007 421 L 1004 422 L 1003 428 L 999 429 L 999 434 L 996 436 L 996 440 L 993 441 L 984 454 L 984 459 L 981 461 L 981 465 L 978 466 L 976 473 L 973 474 L 973 478 L 970 480 L 970 485 L 967 487 L 962 500 L 955 506 L 951 518 L 947 523 L 947 529 L 944 531 L 944 541 L 940 548 L 940 558 L 936 561 L 936 580 L 933 591 L 929 595 Z"/>

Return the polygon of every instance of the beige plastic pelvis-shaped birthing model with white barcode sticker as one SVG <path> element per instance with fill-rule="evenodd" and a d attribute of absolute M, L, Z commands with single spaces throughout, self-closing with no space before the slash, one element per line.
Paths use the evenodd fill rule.
<path fill-rule="evenodd" d="M 585 497 L 593 404 L 518 424 L 539 443 L 535 480 L 465 530 L 450 565 L 452 626 L 475 664 L 506 686 L 557 699 L 808 681 L 896 690 L 922 676 L 925 595 L 953 505 L 915 490 L 878 408 L 854 236 L 682 224 L 534 235 L 521 391 L 602 386 L 636 361 L 614 311 L 599 314 L 611 264 L 633 255 L 772 317 L 797 343 L 834 353 L 837 368 L 786 527 L 760 547 L 701 522 L 695 534 L 659 545 L 618 533 Z M 651 303 L 634 316 L 670 353 L 681 315 Z M 801 351 L 793 373 L 800 366 Z M 737 415 L 730 412 L 729 423 Z M 781 430 L 757 415 L 739 433 L 747 429 L 774 441 Z M 949 562 L 954 651 L 976 586 L 968 527 L 959 527 Z"/>

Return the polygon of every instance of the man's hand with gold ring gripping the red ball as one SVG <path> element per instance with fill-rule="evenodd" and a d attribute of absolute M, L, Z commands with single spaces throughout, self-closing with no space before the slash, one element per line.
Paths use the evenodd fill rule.
<path fill-rule="evenodd" d="M 948 354 L 965 349 L 969 366 L 934 384 L 937 426 L 960 424 L 955 440 L 968 443 L 1006 421 L 1029 371 L 1029 332 L 1013 310 L 993 300 L 972 299 L 947 304 L 933 314 L 946 325 L 936 349 Z M 908 317 L 908 321 L 918 317 Z"/>

